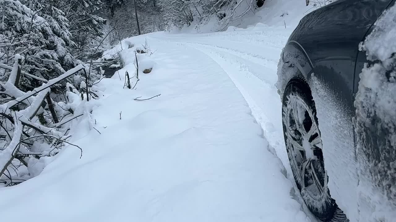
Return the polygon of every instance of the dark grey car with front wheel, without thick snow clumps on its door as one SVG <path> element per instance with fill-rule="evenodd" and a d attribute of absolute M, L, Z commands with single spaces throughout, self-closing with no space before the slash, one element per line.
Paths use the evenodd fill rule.
<path fill-rule="evenodd" d="M 302 198 L 322 221 L 347 221 L 345 214 L 357 221 L 370 208 L 363 205 L 377 201 L 369 196 L 375 190 L 396 209 L 396 122 L 356 110 L 359 74 L 365 63 L 379 62 L 367 60 L 360 44 L 394 4 L 339 0 L 317 9 L 301 19 L 282 52 L 278 89 L 287 154 Z M 388 81 L 394 65 L 384 74 Z"/>

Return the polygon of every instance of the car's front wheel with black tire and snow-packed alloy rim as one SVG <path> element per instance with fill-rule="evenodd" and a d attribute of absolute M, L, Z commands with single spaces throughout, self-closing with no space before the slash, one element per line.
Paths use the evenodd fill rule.
<path fill-rule="evenodd" d="M 303 75 L 294 77 L 286 85 L 282 123 L 293 177 L 308 209 L 324 222 L 348 221 L 327 187 L 315 102 Z"/>

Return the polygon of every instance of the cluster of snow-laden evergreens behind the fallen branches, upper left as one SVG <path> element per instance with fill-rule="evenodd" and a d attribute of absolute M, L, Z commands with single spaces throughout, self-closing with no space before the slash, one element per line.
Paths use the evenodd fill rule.
<path fill-rule="evenodd" d="M 37 79 L 52 79 L 82 64 L 78 58 L 91 55 L 103 35 L 104 20 L 92 14 L 99 6 L 100 1 L 88 0 L 1 0 L 0 66 L 10 66 L 14 55 L 24 56 L 21 68 L 28 75 L 22 76 L 21 88 L 31 90 L 39 86 Z M 97 71 L 90 72 L 97 79 Z M 0 80 L 7 79 L 5 74 Z"/>

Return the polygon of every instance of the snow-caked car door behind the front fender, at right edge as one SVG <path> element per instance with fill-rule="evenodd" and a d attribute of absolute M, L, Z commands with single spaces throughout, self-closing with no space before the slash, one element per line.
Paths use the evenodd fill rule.
<path fill-rule="evenodd" d="M 396 212 L 396 5 L 383 13 L 361 43 L 371 64 L 356 94 L 356 144 L 361 221 L 393 221 Z"/>

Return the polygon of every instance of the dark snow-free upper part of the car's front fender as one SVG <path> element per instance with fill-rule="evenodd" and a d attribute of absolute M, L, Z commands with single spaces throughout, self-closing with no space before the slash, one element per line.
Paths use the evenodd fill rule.
<path fill-rule="evenodd" d="M 358 45 L 389 2 L 339 0 L 309 13 L 291 34 L 284 61 L 295 64 L 307 79 L 314 72 L 329 82 L 353 110 Z"/>

